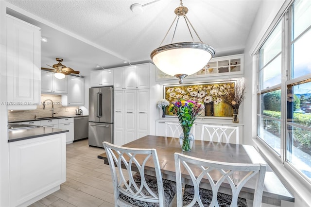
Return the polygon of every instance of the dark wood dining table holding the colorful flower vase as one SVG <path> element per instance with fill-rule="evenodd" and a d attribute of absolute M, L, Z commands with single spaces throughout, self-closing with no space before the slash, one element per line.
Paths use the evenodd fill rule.
<path fill-rule="evenodd" d="M 276 173 L 273 172 L 271 167 L 252 145 L 194 140 L 191 151 L 183 152 L 181 150 L 179 138 L 147 135 L 122 146 L 130 148 L 156 149 L 162 177 L 172 181 L 176 180 L 174 161 L 175 152 L 219 162 L 266 164 L 267 170 L 264 179 L 262 203 L 281 206 L 282 200 L 294 202 L 294 196 L 286 189 L 277 177 Z M 106 153 L 98 155 L 98 158 L 104 159 L 104 164 L 109 165 Z M 152 162 L 147 162 L 145 169 L 146 174 L 155 176 Z M 135 171 L 135 169 L 133 171 Z M 255 178 L 249 180 L 242 188 L 239 197 L 252 200 L 254 197 L 255 181 Z M 191 185 L 190 179 L 187 179 L 187 175 L 184 175 L 183 182 Z M 202 188 L 209 189 L 210 187 L 208 183 L 202 183 Z M 219 189 L 219 192 L 231 194 L 230 186 L 224 183 L 224 185 Z"/>

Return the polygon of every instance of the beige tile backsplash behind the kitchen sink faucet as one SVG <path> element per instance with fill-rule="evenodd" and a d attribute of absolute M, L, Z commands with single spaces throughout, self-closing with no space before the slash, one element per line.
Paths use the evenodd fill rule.
<path fill-rule="evenodd" d="M 51 117 L 52 116 L 52 104 L 51 101 L 46 101 L 45 109 L 43 109 L 43 102 L 47 99 L 51 99 L 54 103 L 54 117 L 59 116 L 74 116 L 76 114 L 76 109 L 78 106 L 62 106 L 62 96 L 51 95 L 51 94 L 41 94 L 41 105 L 37 105 L 35 110 L 9 110 L 8 120 L 25 120 L 33 119 L 35 116 L 40 117 Z"/>

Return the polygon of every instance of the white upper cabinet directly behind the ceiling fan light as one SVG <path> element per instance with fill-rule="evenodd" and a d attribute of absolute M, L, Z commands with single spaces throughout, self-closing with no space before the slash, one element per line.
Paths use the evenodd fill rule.
<path fill-rule="evenodd" d="M 67 81 L 67 76 L 58 79 L 53 72 L 41 71 L 41 92 L 67 94 Z"/>

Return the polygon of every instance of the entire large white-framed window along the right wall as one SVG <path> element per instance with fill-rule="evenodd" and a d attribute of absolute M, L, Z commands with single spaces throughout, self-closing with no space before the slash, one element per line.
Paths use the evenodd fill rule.
<path fill-rule="evenodd" d="M 258 52 L 257 136 L 311 184 L 310 48 L 311 1 L 296 0 Z"/>

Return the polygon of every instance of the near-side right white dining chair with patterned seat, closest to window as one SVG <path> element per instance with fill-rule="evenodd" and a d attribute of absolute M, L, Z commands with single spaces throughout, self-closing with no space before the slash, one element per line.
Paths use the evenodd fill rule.
<path fill-rule="evenodd" d="M 263 182 L 266 173 L 265 164 L 226 163 L 200 159 L 175 153 L 177 207 L 247 207 L 246 199 L 240 198 L 239 193 L 245 183 L 256 176 L 256 186 L 253 207 L 261 206 Z M 180 164 L 181 163 L 181 164 Z M 186 170 L 185 170 L 186 169 Z M 188 173 L 193 186 L 185 185 L 182 194 L 181 172 Z M 239 174 L 241 179 L 235 178 Z M 201 189 L 202 179 L 211 190 Z M 226 181 L 231 187 L 232 194 L 218 192 L 221 184 Z M 227 184 L 227 185 L 228 185 Z"/>

